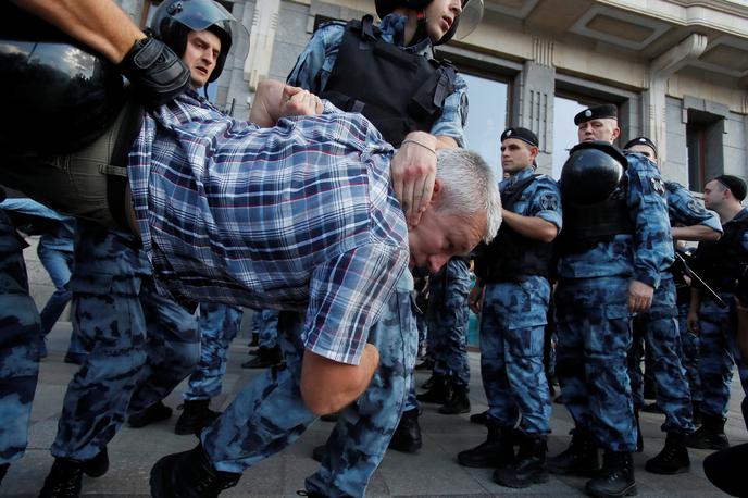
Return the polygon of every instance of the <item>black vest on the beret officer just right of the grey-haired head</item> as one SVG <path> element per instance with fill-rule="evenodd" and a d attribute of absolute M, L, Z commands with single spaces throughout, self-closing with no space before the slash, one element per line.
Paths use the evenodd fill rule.
<path fill-rule="evenodd" d="M 501 207 L 512 211 L 522 192 L 537 179 L 537 175 L 525 178 L 501 194 Z M 501 224 L 496 238 L 483 246 L 475 260 L 475 274 L 484 283 L 518 282 L 522 277 L 539 275 L 548 278 L 553 258 L 553 244 L 535 240 Z"/>

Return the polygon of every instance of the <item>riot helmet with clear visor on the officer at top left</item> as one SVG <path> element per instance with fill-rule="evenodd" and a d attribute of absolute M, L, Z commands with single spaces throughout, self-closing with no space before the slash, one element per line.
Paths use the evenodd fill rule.
<path fill-rule="evenodd" d="M 240 24 L 236 18 L 213 0 L 166 0 L 153 14 L 151 32 L 174 52 L 183 57 L 187 48 L 189 32 L 209 30 L 221 40 L 221 53 L 208 83 L 215 82 L 226 55 L 232 48 L 233 34 L 238 33 Z"/>

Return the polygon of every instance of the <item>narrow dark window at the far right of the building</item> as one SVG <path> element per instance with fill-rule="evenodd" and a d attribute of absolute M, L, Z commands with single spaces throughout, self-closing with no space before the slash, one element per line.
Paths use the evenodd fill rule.
<path fill-rule="evenodd" d="M 724 172 L 722 116 L 688 109 L 686 147 L 688 149 L 688 188 L 700 192 L 710 178 Z"/>

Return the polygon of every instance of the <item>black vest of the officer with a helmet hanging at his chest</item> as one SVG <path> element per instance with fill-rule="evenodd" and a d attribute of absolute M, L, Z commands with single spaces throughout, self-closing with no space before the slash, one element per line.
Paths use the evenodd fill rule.
<path fill-rule="evenodd" d="M 563 199 L 563 232 L 559 244 L 562 254 L 584 252 L 615 235 L 633 234 L 634 223 L 626 206 L 626 176 L 602 202 L 577 204 Z"/>

